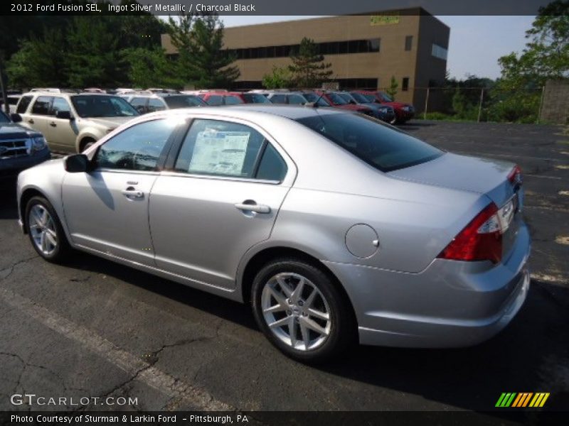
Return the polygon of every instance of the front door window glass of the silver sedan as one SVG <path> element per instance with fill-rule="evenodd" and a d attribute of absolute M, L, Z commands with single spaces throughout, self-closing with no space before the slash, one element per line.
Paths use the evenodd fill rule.
<path fill-rule="evenodd" d="M 156 163 L 175 120 L 154 120 L 137 124 L 109 139 L 97 151 L 97 167 L 120 170 L 156 170 Z"/>

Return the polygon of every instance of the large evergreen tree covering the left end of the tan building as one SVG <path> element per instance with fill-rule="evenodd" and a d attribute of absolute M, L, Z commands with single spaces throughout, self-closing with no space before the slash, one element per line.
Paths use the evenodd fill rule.
<path fill-rule="evenodd" d="M 186 14 L 170 18 L 171 42 L 179 52 L 181 77 L 195 87 L 228 87 L 240 75 L 235 57 L 223 48 L 223 22 L 216 14 Z"/>

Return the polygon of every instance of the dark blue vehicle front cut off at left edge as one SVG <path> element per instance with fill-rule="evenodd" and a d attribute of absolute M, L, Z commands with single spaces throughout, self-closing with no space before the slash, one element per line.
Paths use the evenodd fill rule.
<path fill-rule="evenodd" d="M 19 116 L 15 118 L 17 121 Z M 0 111 L 0 178 L 17 175 L 49 158 L 48 144 L 41 133 L 14 123 Z"/>

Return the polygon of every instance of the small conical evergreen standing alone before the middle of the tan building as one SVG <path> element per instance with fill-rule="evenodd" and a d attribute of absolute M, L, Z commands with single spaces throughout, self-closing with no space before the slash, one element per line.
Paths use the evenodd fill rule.
<path fill-rule="evenodd" d="M 310 38 L 302 38 L 298 53 L 290 57 L 289 71 L 297 87 L 318 87 L 333 74 L 331 64 L 324 62 L 324 55 L 318 52 L 318 45 Z"/>

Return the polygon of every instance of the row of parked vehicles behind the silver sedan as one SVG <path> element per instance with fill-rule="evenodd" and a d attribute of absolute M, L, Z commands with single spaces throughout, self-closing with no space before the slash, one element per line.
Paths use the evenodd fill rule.
<path fill-rule="evenodd" d="M 357 111 L 390 124 L 404 123 L 414 114 L 413 106 L 394 102 L 384 92 L 363 90 L 116 89 L 113 92 L 109 94 L 96 88 L 82 92 L 44 88 L 31 89 L 26 94 L 10 94 L 11 114 L 0 114 L 0 174 L 15 174 L 41 163 L 49 158 L 49 148 L 67 153 L 83 152 L 134 116 L 164 109 L 236 104 L 310 105 Z"/>

